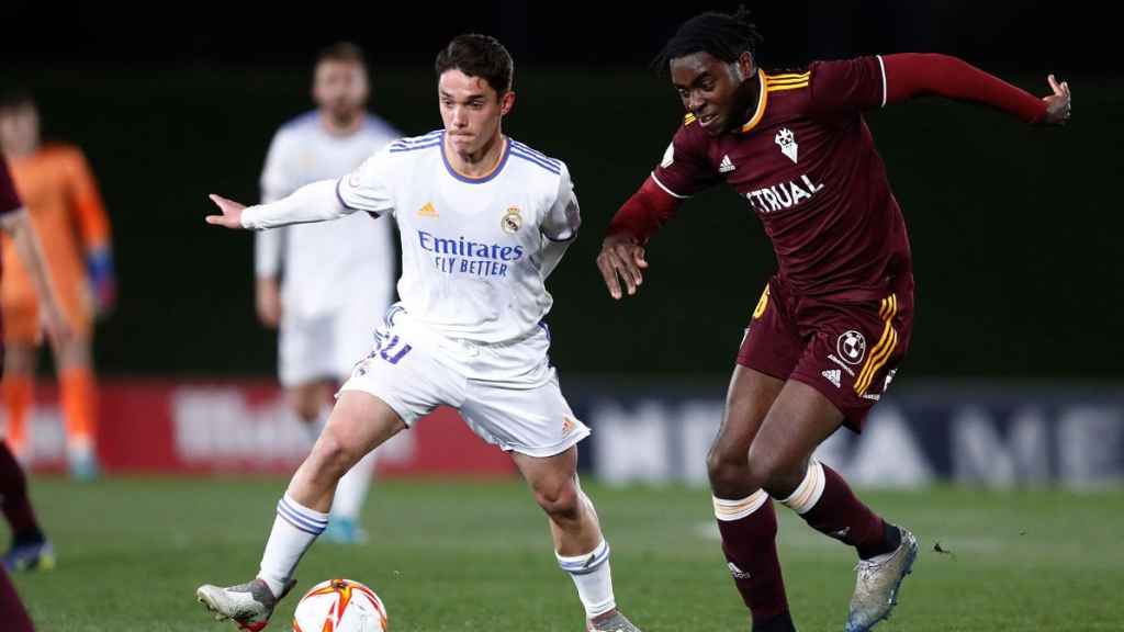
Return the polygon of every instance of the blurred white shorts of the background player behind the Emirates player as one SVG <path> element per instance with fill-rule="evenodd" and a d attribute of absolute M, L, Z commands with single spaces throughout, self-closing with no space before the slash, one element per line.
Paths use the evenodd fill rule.
<path fill-rule="evenodd" d="M 284 387 L 317 380 L 343 381 L 374 343 L 387 304 L 347 301 L 318 316 L 283 312 L 278 333 L 278 377 Z"/>

